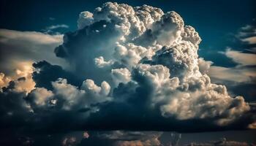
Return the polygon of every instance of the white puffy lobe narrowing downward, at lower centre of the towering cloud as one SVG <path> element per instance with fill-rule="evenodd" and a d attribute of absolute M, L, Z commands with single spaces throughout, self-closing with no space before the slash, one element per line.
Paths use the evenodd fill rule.
<path fill-rule="evenodd" d="M 143 88 L 148 88 L 149 106 L 165 102 L 167 95 L 178 88 L 179 80 L 177 77 L 169 78 L 170 72 L 167 67 L 162 65 L 150 66 L 148 64 L 140 64 L 134 70 L 132 78 L 136 80 Z M 144 89 L 145 90 L 145 89 Z M 121 95 L 120 95 L 121 96 Z"/>

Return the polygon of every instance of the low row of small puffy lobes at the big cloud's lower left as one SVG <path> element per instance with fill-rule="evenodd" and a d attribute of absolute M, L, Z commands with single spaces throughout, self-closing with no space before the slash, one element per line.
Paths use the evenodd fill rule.
<path fill-rule="evenodd" d="M 91 104 L 97 104 L 110 100 L 108 93 L 110 85 L 102 82 L 101 86 L 94 84 L 93 80 L 85 80 L 80 88 L 67 83 L 66 79 L 59 78 L 52 82 L 53 91 L 45 88 L 36 88 L 26 98 L 33 109 L 56 107 L 60 110 L 72 111 L 89 108 Z"/>

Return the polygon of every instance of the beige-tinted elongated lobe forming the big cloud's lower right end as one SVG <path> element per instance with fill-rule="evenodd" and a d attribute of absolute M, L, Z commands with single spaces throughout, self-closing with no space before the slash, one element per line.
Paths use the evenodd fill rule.
<path fill-rule="evenodd" d="M 231 99 L 225 93 L 223 95 L 217 91 L 207 91 L 200 95 L 180 93 L 176 97 L 178 98 L 171 99 L 169 104 L 161 107 L 164 116 L 175 115 L 180 120 L 222 117 L 217 119 L 216 123 L 225 126 L 249 110 L 249 105 L 244 103 L 241 96 Z"/>

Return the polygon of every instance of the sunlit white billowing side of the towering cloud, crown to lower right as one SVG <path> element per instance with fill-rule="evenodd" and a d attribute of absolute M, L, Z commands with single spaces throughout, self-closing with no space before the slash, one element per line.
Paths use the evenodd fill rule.
<path fill-rule="evenodd" d="M 137 82 L 151 87 L 149 101 L 145 102 L 153 107 L 160 105 L 162 116 L 179 120 L 219 117 L 214 122 L 225 125 L 249 110 L 243 97 L 232 98 L 225 85 L 211 83 L 205 74 L 211 62 L 197 55 L 201 39 L 176 12 L 108 2 L 93 13 L 82 12 L 78 27 L 91 26 L 99 20 L 115 23 L 113 29 L 121 34 L 116 47 L 108 50 L 112 55 L 95 59 L 97 66 L 109 64 L 103 60 L 105 57 L 126 66 L 111 67 L 113 82 Z"/>

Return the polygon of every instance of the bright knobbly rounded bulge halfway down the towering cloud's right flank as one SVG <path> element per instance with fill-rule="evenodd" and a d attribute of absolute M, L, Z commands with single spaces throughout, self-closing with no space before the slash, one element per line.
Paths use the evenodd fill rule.
<path fill-rule="evenodd" d="M 190 42 L 181 41 L 175 47 L 162 47 L 153 56 L 151 64 L 167 66 L 173 77 L 180 77 L 180 79 L 192 74 L 200 75 L 197 69 L 197 48 Z"/>

